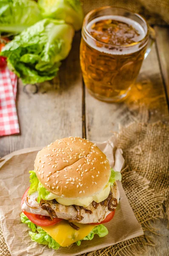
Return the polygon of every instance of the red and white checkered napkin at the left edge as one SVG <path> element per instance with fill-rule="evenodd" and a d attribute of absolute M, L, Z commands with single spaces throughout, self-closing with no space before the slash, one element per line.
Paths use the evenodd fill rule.
<path fill-rule="evenodd" d="M 0 136 L 20 132 L 15 105 L 17 76 L 6 67 L 0 70 Z"/>

